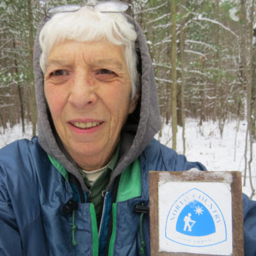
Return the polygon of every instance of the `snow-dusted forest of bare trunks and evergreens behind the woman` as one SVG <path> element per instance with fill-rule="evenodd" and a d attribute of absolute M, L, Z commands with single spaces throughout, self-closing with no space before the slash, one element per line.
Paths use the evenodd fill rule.
<path fill-rule="evenodd" d="M 162 122 L 182 127 L 185 120 L 211 120 L 222 136 L 231 120 L 246 121 L 244 177 L 252 196 L 253 143 L 256 141 L 255 0 L 127 0 L 143 28 L 156 74 Z M 1 0 L 0 126 L 32 124 L 36 134 L 33 44 L 46 10 L 68 0 Z M 159 133 L 161 138 L 161 132 Z M 244 179 L 246 180 L 246 179 Z M 244 181 L 245 182 L 245 181 Z"/>

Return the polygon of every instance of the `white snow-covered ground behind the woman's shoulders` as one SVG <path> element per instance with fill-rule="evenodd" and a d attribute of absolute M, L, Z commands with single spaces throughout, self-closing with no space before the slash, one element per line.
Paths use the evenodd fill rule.
<path fill-rule="evenodd" d="M 20 138 L 31 138 L 31 125 L 26 125 L 26 132 L 22 134 L 21 125 L 15 125 L 3 131 L 0 128 L 0 148 Z M 200 161 L 209 171 L 240 171 L 244 173 L 244 147 L 246 138 L 246 122 L 236 121 L 225 124 L 223 138 L 221 139 L 218 123 L 205 122 L 202 127 L 198 121 L 186 120 L 186 156 L 189 161 Z M 158 138 L 158 136 L 156 136 Z M 163 136 L 159 140 L 172 147 L 172 129 L 163 127 Z M 179 127 L 177 134 L 177 152 L 183 154 L 182 129 Z M 253 144 L 253 152 L 256 151 L 256 143 Z M 256 188 L 256 159 L 252 161 L 253 186 Z M 249 180 L 243 192 L 251 195 Z M 254 197 L 256 199 L 256 196 Z"/>

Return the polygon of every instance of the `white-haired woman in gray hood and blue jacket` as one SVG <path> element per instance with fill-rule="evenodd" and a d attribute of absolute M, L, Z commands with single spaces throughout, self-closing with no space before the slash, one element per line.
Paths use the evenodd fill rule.
<path fill-rule="evenodd" d="M 55 8 L 38 29 L 38 138 L 0 152 L 1 255 L 150 255 L 148 171 L 205 170 L 154 140 L 152 63 L 122 7 Z"/>

